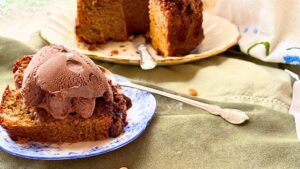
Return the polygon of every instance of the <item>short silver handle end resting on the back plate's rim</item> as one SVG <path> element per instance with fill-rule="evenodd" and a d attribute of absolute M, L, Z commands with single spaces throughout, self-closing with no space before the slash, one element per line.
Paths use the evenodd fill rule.
<path fill-rule="evenodd" d="M 141 44 L 138 47 L 138 51 L 140 52 L 140 66 L 143 70 L 150 70 L 156 67 L 157 63 L 154 58 L 150 55 L 145 44 Z"/>

